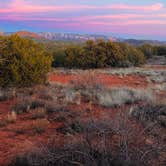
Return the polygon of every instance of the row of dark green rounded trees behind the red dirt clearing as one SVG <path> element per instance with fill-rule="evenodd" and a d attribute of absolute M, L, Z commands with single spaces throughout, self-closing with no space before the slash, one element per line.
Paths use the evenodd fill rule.
<path fill-rule="evenodd" d="M 54 67 L 69 68 L 128 67 L 145 63 L 144 54 L 139 49 L 125 43 L 103 40 L 56 50 L 53 57 Z"/>

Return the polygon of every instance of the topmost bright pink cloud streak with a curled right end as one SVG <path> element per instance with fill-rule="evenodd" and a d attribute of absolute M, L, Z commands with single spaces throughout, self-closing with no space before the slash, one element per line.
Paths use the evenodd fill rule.
<path fill-rule="evenodd" d="M 135 6 L 126 4 L 113 4 L 109 6 L 90 6 L 90 5 L 54 5 L 54 6 L 39 6 L 32 5 L 24 0 L 13 0 L 6 9 L 0 9 L 0 13 L 31 13 L 31 12 L 67 12 L 67 11 L 80 11 L 80 10 L 143 10 L 143 11 L 159 11 L 164 7 L 162 3 L 156 3 L 149 6 Z"/>

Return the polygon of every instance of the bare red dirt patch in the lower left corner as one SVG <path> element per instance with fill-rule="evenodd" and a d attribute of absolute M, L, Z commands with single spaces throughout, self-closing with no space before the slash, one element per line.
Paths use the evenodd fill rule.
<path fill-rule="evenodd" d="M 15 101 L 0 102 L 0 120 L 7 116 L 14 103 Z M 45 133 L 37 135 L 32 132 L 33 120 L 28 117 L 28 114 L 18 115 L 16 123 L 0 128 L 0 166 L 8 165 L 12 157 L 22 149 L 32 148 L 37 142 L 46 142 L 53 131 L 61 126 L 61 123 L 50 123 Z M 15 129 L 20 127 L 27 130 L 25 134 L 16 134 Z"/>

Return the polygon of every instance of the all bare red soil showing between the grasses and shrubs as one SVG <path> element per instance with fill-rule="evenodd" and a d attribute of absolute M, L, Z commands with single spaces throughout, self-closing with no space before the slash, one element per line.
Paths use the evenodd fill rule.
<path fill-rule="evenodd" d="M 68 85 L 71 83 L 71 81 L 76 81 L 78 77 L 78 75 L 54 73 L 49 75 L 48 80 L 53 83 L 55 82 Z M 98 74 L 98 80 L 107 87 L 128 86 L 133 88 L 146 88 L 148 86 L 146 77 L 136 75 L 126 75 L 121 77 L 117 75 L 100 73 Z M 15 104 L 15 102 L 16 101 L 14 100 L 0 102 L 0 120 L 7 116 L 7 113 L 11 111 L 11 107 Z M 79 111 L 79 114 L 83 113 L 85 119 L 87 116 L 89 116 L 89 113 L 85 113 L 85 108 L 89 107 L 89 105 L 84 103 L 79 106 L 69 106 L 71 110 L 75 112 Z M 99 106 L 92 106 L 91 109 L 94 110 L 92 111 L 91 115 L 95 118 L 101 118 L 104 116 L 113 118 L 117 112 L 117 109 L 105 109 Z M 0 128 L 0 166 L 6 166 L 17 152 L 22 151 L 23 147 L 24 149 L 25 147 L 28 149 L 33 147 L 33 143 L 46 142 L 52 137 L 53 133 L 56 133 L 56 129 L 63 125 L 60 122 L 51 122 L 45 133 L 42 135 L 37 135 L 32 133 L 31 126 L 33 120 L 30 117 L 30 113 L 18 115 L 16 123 Z M 51 117 L 47 117 L 47 119 L 51 121 Z M 14 130 L 20 126 L 26 128 L 27 132 L 25 134 L 16 134 L 16 132 L 14 132 Z M 59 134 L 56 135 L 56 137 L 60 138 L 59 140 L 63 144 L 63 135 Z M 61 145 L 60 141 L 58 142 L 59 145 Z"/>

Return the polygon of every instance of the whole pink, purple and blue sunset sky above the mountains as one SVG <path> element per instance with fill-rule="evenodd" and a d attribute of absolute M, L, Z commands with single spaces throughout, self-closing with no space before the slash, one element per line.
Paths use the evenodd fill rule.
<path fill-rule="evenodd" d="M 0 31 L 166 40 L 166 0 L 0 0 Z"/>

